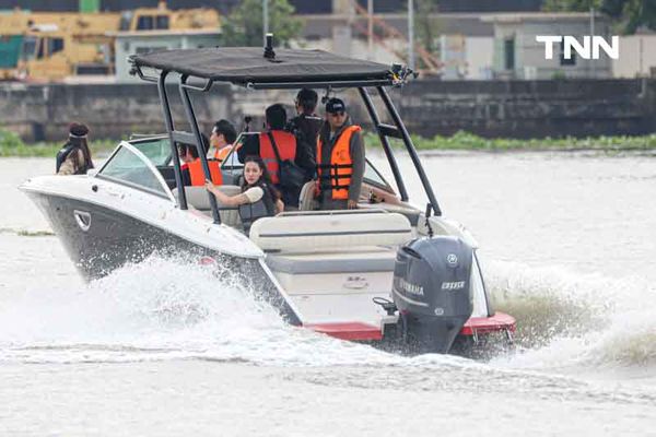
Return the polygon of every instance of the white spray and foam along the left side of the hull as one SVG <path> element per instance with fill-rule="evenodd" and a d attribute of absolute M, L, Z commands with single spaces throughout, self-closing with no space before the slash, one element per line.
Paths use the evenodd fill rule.
<path fill-rule="evenodd" d="M 237 277 L 221 277 L 184 258 L 151 257 L 89 285 L 27 291 L 0 305 L 0 361 L 324 366 L 401 359 L 291 327 Z"/>

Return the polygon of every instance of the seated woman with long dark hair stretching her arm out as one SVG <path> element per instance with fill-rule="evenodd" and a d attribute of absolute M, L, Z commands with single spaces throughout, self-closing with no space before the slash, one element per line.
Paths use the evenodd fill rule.
<path fill-rule="evenodd" d="M 239 206 L 239 216 L 246 234 L 258 218 L 276 215 L 284 210 L 280 192 L 271 184 L 271 176 L 259 156 L 246 156 L 242 193 L 227 196 L 206 180 L 206 188 L 225 206 Z"/>

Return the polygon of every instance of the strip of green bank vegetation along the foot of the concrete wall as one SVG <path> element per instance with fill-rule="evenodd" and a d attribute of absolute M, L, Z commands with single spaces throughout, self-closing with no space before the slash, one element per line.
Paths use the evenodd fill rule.
<path fill-rule="evenodd" d="M 472 133 L 459 131 L 450 137 L 435 135 L 423 138 L 413 135 L 412 141 L 418 150 L 425 151 L 649 151 L 656 150 L 656 134 L 641 137 L 597 137 L 597 138 L 544 138 L 518 140 L 507 138 L 488 139 Z M 367 145 L 378 145 L 374 133 L 365 135 Z M 109 153 L 118 140 L 93 140 L 90 143 L 94 154 Z M 0 130 L 0 156 L 55 156 L 61 143 L 42 142 L 28 144 L 13 132 Z M 395 146 L 401 146 L 400 140 L 394 140 Z"/>

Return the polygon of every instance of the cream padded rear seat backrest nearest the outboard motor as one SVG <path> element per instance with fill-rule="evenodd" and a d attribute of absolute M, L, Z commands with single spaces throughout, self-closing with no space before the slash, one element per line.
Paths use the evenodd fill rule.
<path fill-rule="evenodd" d="M 398 246 L 412 238 L 410 222 L 398 213 L 313 211 L 258 220 L 250 239 L 266 251 L 317 252 L 364 246 Z"/>

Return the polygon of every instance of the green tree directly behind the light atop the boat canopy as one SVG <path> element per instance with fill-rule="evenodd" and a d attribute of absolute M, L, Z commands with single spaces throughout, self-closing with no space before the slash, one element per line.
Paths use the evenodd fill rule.
<path fill-rule="evenodd" d="M 294 7 L 288 0 L 269 2 L 269 32 L 276 46 L 289 46 L 297 37 L 303 22 L 294 16 Z M 223 43 L 226 46 L 261 47 L 263 45 L 262 0 L 244 0 L 223 21 Z"/>

